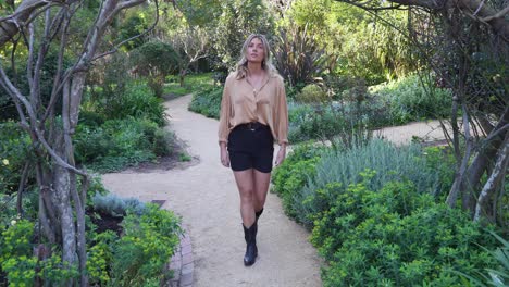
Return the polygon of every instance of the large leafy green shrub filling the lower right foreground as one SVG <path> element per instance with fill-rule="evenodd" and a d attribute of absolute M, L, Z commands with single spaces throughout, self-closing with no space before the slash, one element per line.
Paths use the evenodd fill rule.
<path fill-rule="evenodd" d="M 494 242 L 467 213 L 435 203 L 410 182 L 371 189 L 372 176 L 316 192 L 331 200 L 311 237 L 328 262 L 324 286 L 463 286 L 452 270 L 493 264 L 477 242 Z"/>

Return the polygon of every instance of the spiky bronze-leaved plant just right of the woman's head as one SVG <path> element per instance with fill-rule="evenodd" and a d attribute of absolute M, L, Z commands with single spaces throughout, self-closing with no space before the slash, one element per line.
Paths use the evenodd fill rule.
<path fill-rule="evenodd" d="M 310 84 L 327 65 L 327 55 L 308 32 L 308 26 L 289 25 L 280 29 L 274 46 L 274 62 L 291 85 Z"/>

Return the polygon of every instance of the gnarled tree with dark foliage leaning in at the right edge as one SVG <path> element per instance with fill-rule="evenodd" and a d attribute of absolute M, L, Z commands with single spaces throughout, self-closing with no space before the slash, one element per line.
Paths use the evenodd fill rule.
<path fill-rule="evenodd" d="M 443 87 L 452 90 L 450 125 L 457 160 L 447 197 L 476 220 L 497 219 L 507 174 L 509 12 L 505 1 L 343 1 L 368 11 L 407 9 L 409 36 Z M 462 120 L 459 121 L 458 112 Z M 461 132 L 458 122 L 462 123 Z M 461 148 L 464 142 L 465 148 Z M 488 178 L 483 185 L 483 177 Z M 483 190 L 479 192 L 477 190 Z"/>

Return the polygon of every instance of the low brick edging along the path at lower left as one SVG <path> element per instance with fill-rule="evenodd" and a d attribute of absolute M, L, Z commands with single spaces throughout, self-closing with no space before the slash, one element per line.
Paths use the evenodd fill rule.
<path fill-rule="evenodd" d="M 193 247 L 189 229 L 185 226 L 182 228 L 184 233 L 181 235 L 181 244 L 169 263 L 169 269 L 173 271 L 173 278 L 170 279 L 167 287 L 193 287 L 193 273 L 195 271 Z"/>

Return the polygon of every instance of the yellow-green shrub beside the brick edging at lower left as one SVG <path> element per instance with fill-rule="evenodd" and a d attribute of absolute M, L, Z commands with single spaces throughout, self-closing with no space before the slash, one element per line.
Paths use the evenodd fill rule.
<path fill-rule="evenodd" d="M 179 220 L 154 204 L 146 208 L 141 216 L 129 213 L 124 217 L 125 235 L 113 253 L 113 286 L 145 286 L 147 280 L 171 276 L 163 269 L 178 245 Z"/>

